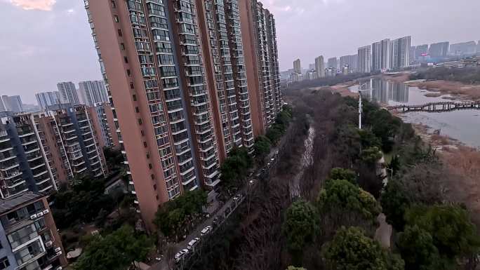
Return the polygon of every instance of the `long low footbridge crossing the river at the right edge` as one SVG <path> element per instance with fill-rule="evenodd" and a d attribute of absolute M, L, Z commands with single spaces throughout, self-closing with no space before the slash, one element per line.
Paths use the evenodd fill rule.
<path fill-rule="evenodd" d="M 480 101 L 476 102 L 429 102 L 420 105 L 398 105 L 386 107 L 396 112 L 451 112 L 460 109 L 480 109 Z"/>

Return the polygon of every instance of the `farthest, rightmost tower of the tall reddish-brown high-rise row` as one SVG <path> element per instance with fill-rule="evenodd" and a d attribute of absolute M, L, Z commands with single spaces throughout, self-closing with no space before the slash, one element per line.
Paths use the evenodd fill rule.
<path fill-rule="evenodd" d="M 265 133 L 274 123 L 282 106 L 275 19 L 256 0 L 239 1 L 239 8 L 253 133 L 256 136 Z M 295 73 L 302 77 L 301 72 Z"/>

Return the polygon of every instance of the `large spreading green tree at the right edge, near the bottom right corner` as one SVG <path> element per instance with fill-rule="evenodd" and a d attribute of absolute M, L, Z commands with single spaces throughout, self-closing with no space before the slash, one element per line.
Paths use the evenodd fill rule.
<path fill-rule="evenodd" d="M 476 226 L 458 205 L 416 206 L 406 212 L 406 221 L 428 231 L 442 256 L 468 256 L 480 248 Z"/>

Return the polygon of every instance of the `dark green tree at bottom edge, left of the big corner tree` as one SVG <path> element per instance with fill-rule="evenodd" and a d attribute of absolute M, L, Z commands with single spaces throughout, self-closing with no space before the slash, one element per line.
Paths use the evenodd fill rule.
<path fill-rule="evenodd" d="M 396 245 L 405 261 L 406 270 L 450 269 L 443 268 L 448 263 L 441 262 L 439 250 L 433 243 L 432 235 L 417 225 L 407 226 L 405 231 L 399 234 Z"/>

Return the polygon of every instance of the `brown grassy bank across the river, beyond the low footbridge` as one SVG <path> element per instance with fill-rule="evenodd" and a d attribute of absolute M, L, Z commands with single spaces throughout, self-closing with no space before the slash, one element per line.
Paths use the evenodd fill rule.
<path fill-rule="evenodd" d="M 480 100 L 480 85 L 470 85 L 458 81 L 409 81 L 409 74 L 401 75 L 380 75 L 380 78 L 397 83 L 406 83 L 408 86 L 415 86 L 422 90 L 439 92 L 442 95 L 451 95 L 455 100 Z M 432 93 L 437 95 L 436 93 Z M 429 94 L 427 94 L 429 95 Z"/>

